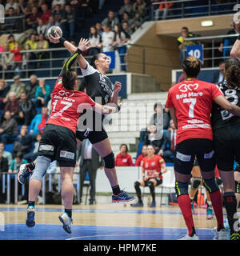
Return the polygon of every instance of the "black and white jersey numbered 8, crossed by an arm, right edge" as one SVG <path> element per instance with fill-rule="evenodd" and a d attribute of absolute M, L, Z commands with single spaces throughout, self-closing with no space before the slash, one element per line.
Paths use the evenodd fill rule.
<path fill-rule="evenodd" d="M 240 106 L 240 89 L 230 88 L 226 82 L 217 85 L 227 100 L 232 104 Z M 226 126 L 234 126 L 238 124 L 240 126 L 240 117 L 230 114 L 227 110 L 222 109 L 218 104 L 213 103 L 211 123 L 213 130 Z"/>

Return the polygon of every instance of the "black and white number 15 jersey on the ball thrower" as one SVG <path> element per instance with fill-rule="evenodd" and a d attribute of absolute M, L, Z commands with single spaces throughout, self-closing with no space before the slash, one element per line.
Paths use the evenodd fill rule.
<path fill-rule="evenodd" d="M 86 94 L 99 104 L 105 105 L 110 102 L 110 98 L 114 95 L 114 85 L 110 78 L 94 69 L 88 62 L 86 70 L 81 69 L 81 71 L 86 82 Z"/>

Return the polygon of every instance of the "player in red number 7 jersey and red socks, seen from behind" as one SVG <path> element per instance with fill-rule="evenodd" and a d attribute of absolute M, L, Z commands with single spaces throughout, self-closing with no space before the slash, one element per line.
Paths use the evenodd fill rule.
<path fill-rule="evenodd" d="M 203 185 L 210 193 L 218 221 L 214 239 L 220 240 L 226 239 L 226 230 L 223 226 L 222 195 L 214 179 L 215 162 L 210 112 L 213 102 L 232 114 L 239 115 L 240 108 L 228 102 L 217 86 L 198 80 L 200 68 L 201 62 L 198 58 L 193 56 L 186 58 L 182 63 L 182 72 L 186 80 L 171 87 L 167 97 L 166 107 L 170 108 L 171 117 L 178 129 L 174 159 L 175 190 L 178 205 L 188 228 L 188 234 L 182 239 L 198 240 L 188 195 L 188 182 L 196 156 Z"/>

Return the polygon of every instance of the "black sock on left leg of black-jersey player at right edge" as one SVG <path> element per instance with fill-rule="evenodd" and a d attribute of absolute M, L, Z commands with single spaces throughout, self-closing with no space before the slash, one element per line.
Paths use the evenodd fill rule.
<path fill-rule="evenodd" d="M 238 217 L 236 216 L 237 213 L 237 200 L 234 192 L 226 192 L 223 194 L 223 201 L 226 208 L 226 215 L 228 224 L 230 227 L 230 234 L 235 233 L 235 228 L 238 228 L 239 222 Z M 235 216 L 234 216 L 235 214 Z M 235 218 L 234 218 L 235 217 Z"/>

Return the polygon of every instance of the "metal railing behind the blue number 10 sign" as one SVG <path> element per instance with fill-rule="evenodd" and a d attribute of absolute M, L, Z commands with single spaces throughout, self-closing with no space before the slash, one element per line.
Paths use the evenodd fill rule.
<path fill-rule="evenodd" d="M 210 61 L 211 62 L 211 67 L 215 66 L 215 60 L 224 60 L 227 58 L 230 58 L 229 55 L 227 56 L 221 56 L 221 57 L 216 57 L 215 56 L 215 50 L 218 50 L 219 44 L 221 43 L 221 40 L 219 42 L 219 39 L 223 38 L 237 38 L 239 34 L 226 34 L 226 35 L 215 35 L 215 36 L 205 36 L 205 37 L 193 37 L 193 38 L 186 38 L 184 41 L 186 42 L 194 42 L 194 41 L 200 41 L 200 42 L 210 42 L 211 46 L 210 47 L 203 47 L 203 52 L 208 51 L 208 54 L 210 54 L 209 58 L 203 58 L 204 61 Z M 218 46 L 216 46 L 216 43 L 218 43 Z M 224 49 L 229 49 L 231 50 L 233 46 L 223 46 L 222 54 Z M 186 45 L 184 45 L 185 51 L 185 56 L 186 56 Z"/>

